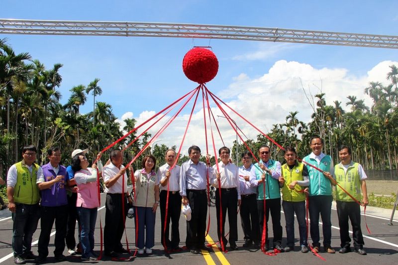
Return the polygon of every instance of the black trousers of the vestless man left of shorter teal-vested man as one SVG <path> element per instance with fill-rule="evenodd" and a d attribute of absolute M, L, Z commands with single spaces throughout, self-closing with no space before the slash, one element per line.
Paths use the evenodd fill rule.
<path fill-rule="evenodd" d="M 241 195 L 240 221 L 245 243 L 260 243 L 260 225 L 258 222 L 256 194 Z"/>

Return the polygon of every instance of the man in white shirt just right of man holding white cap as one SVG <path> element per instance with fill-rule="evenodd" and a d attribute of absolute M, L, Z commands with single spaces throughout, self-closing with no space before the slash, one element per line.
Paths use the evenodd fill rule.
<path fill-rule="evenodd" d="M 229 162 L 230 150 L 227 147 L 221 147 L 218 155 L 221 161 L 218 163 L 220 172 L 212 179 L 212 185 L 217 188 L 215 193 L 215 207 L 217 212 L 217 234 L 218 240 L 226 246 L 225 238 L 225 217 L 228 210 L 229 222 L 229 246 L 231 250 L 237 250 L 236 241 L 238 240 L 237 211 L 240 205 L 239 172 L 236 165 Z M 217 165 L 213 166 L 214 172 L 217 172 Z M 219 186 L 219 182 L 221 186 Z M 221 188 L 221 197 L 219 189 Z M 222 210 L 222 231 L 220 229 L 220 205 Z"/>

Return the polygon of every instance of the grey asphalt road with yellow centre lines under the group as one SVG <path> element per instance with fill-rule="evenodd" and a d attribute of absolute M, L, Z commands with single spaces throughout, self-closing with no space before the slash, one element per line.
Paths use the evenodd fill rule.
<path fill-rule="evenodd" d="M 102 205 L 104 204 L 104 194 L 101 194 Z M 370 214 L 377 214 L 376 212 Z M 10 212 L 8 210 L 0 211 L 0 264 L 1 265 L 11 265 L 14 264 L 12 260 L 12 248 L 11 248 L 11 237 L 12 237 L 12 220 L 9 217 Z M 211 225 L 209 235 L 206 238 L 209 242 L 212 240 L 217 240 L 217 232 L 216 232 L 216 217 L 215 217 L 215 207 L 210 208 L 210 218 Z M 363 216 L 362 216 L 363 217 Z M 387 217 L 387 216 L 386 216 Z M 385 264 L 397 264 L 398 261 L 398 221 L 395 221 L 395 226 L 389 226 L 389 218 L 386 217 L 374 217 L 372 215 L 367 214 L 367 222 L 368 226 L 372 232 L 371 235 L 368 235 L 365 227 L 365 219 L 362 218 L 362 230 L 365 237 L 365 246 L 364 249 L 367 251 L 367 256 L 361 256 L 357 253 L 348 253 L 348 254 L 339 254 L 337 251 L 340 247 L 340 237 L 338 230 L 338 220 L 337 213 L 335 209 L 332 209 L 332 247 L 336 250 L 336 254 L 328 254 L 328 253 L 320 253 L 320 255 L 325 259 L 322 261 L 311 253 L 303 254 L 299 252 L 298 248 L 298 226 L 296 223 L 295 233 L 296 233 L 296 251 L 290 253 L 281 253 L 277 256 L 268 256 L 264 255 L 260 250 L 255 249 L 244 249 L 241 246 L 243 245 L 243 234 L 242 229 L 240 227 L 240 218 L 238 218 L 238 247 L 237 251 L 228 251 L 227 253 L 220 252 L 217 248 L 213 248 L 209 253 L 202 253 L 201 255 L 191 254 L 187 251 L 183 251 L 180 253 L 173 253 L 170 255 L 165 255 L 163 251 L 163 247 L 160 243 L 160 211 L 157 211 L 156 214 L 156 227 L 155 227 L 155 247 L 153 248 L 152 255 L 140 255 L 135 259 L 130 261 L 118 261 L 121 263 L 125 262 L 139 262 L 144 264 L 232 264 L 232 265 L 241 265 L 241 264 L 350 264 L 350 265 L 364 265 L 364 264 L 373 264 L 373 265 L 385 265 Z M 100 219 L 102 220 L 102 227 L 104 225 L 105 219 L 105 210 L 104 207 L 101 207 L 99 210 L 99 215 L 97 218 L 97 226 L 96 226 L 96 248 L 95 250 L 99 252 L 100 250 Z M 397 219 L 397 218 L 396 218 Z M 271 221 L 269 221 L 271 222 Z M 281 223 L 284 228 L 283 231 L 283 246 L 286 245 L 286 231 L 285 231 L 285 219 L 282 214 Z M 226 224 L 226 230 L 228 229 L 228 225 Z M 53 231 L 55 231 L 53 229 Z M 129 242 L 129 247 L 132 250 L 135 250 L 135 239 L 134 239 L 134 222 L 133 219 L 127 219 L 126 221 L 126 232 L 127 238 Z M 77 231 L 76 231 L 77 233 Z M 272 236 L 272 226 L 270 226 L 270 237 Z M 33 246 L 32 251 L 37 255 L 37 240 L 40 234 L 40 222 L 39 227 L 36 230 L 36 233 L 33 236 Z M 186 237 L 186 221 L 184 216 L 182 215 L 180 218 L 180 238 L 181 244 L 180 246 L 184 246 Z M 76 236 L 77 238 L 77 236 Z M 322 239 L 321 239 L 322 240 Z M 54 251 L 54 236 L 50 239 L 49 246 L 49 257 L 47 258 L 44 264 L 56 263 L 56 260 L 53 258 Z M 126 245 L 125 239 L 123 238 L 123 244 Z M 311 240 L 309 239 L 309 242 Z M 126 246 L 124 246 L 126 248 Z M 67 255 L 67 250 L 64 251 L 64 255 Z M 67 256 L 67 260 L 58 264 L 70 264 L 70 263 L 80 263 L 80 256 Z M 128 258 L 128 255 L 122 256 L 124 258 Z M 27 264 L 33 263 L 33 261 L 27 261 Z M 110 264 L 114 263 L 108 257 L 104 257 L 101 261 L 96 262 L 84 262 L 91 264 Z"/>

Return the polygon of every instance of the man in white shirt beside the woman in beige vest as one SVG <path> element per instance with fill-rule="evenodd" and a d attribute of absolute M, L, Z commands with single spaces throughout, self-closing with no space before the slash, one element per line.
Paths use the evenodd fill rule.
<path fill-rule="evenodd" d="M 176 165 L 170 171 L 170 167 L 173 166 L 175 161 L 176 151 L 174 149 L 167 150 L 166 164 L 159 168 L 158 177 L 160 178 L 160 218 L 162 220 L 161 242 L 168 251 L 178 252 L 182 250 L 179 247 L 179 222 L 181 215 L 180 166 Z M 169 191 L 169 203 L 165 230 L 167 191 Z M 169 239 L 170 220 L 172 222 L 171 240 Z"/>

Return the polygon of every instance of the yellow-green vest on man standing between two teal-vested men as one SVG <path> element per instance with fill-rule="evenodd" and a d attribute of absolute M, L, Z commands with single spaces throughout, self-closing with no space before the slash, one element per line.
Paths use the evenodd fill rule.
<path fill-rule="evenodd" d="M 282 188 L 282 200 L 285 201 L 304 201 L 305 194 L 298 192 L 297 190 L 304 189 L 300 185 L 296 184 L 295 189 L 289 187 L 290 183 L 295 180 L 304 180 L 302 177 L 302 169 L 304 168 L 303 163 L 296 163 L 295 167 L 290 170 L 288 164 L 282 166 L 282 176 L 285 178 L 285 182 Z"/>

